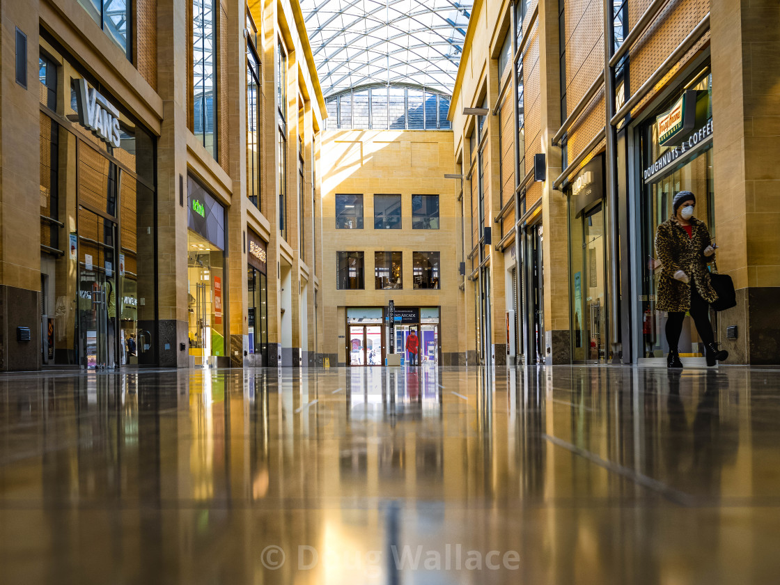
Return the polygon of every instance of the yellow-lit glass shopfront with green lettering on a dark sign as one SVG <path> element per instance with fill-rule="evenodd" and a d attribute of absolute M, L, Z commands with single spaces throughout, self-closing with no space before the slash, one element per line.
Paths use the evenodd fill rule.
<path fill-rule="evenodd" d="M 225 207 L 193 176 L 187 176 L 187 310 L 190 357 L 206 366 L 210 356 L 226 356 L 223 302 L 225 282 Z"/>

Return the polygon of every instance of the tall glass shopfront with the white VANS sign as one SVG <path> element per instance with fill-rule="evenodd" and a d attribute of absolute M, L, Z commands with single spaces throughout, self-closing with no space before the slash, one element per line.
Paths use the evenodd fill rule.
<path fill-rule="evenodd" d="M 154 137 L 45 37 L 39 82 L 43 363 L 153 365 Z"/>

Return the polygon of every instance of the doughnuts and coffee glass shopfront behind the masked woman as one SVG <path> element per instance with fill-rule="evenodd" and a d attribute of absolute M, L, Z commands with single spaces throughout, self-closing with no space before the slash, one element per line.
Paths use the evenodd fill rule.
<path fill-rule="evenodd" d="M 640 126 L 643 189 L 641 191 L 641 339 L 640 357 L 660 358 L 668 352 L 666 314 L 655 310 L 661 263 L 654 248 L 655 231 L 672 215 L 675 193 L 696 195 L 696 217 L 714 230 L 712 162 L 712 73 L 703 66 Z M 713 323 L 714 324 L 714 323 Z M 686 316 L 680 353 L 701 356 L 696 328 Z"/>

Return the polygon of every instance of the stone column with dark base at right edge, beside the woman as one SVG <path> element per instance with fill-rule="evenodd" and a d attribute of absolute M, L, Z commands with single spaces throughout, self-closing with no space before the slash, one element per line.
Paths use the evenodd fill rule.
<path fill-rule="evenodd" d="M 718 315 L 727 363 L 780 363 L 780 30 L 769 26 L 778 22 L 777 2 L 711 6 L 714 231 L 718 268 L 737 293 Z"/>

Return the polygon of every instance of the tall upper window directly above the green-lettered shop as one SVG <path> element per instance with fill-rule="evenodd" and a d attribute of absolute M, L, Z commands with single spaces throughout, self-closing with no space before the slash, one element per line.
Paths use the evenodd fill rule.
<path fill-rule="evenodd" d="M 217 158 L 214 0 L 193 0 L 193 134 Z"/>

